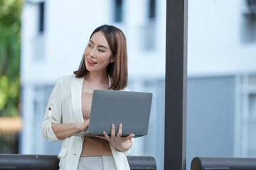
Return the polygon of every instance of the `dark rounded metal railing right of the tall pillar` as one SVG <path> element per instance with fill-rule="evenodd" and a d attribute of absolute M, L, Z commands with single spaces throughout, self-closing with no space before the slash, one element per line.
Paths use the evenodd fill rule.
<path fill-rule="evenodd" d="M 256 158 L 195 157 L 191 170 L 256 170 Z"/>

